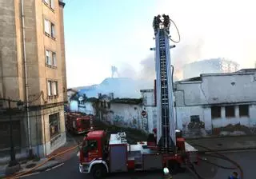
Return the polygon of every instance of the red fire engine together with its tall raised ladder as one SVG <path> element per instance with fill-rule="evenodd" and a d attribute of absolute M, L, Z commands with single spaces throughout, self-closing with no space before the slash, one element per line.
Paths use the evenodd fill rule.
<path fill-rule="evenodd" d="M 197 149 L 186 143 L 175 129 L 173 82 L 170 66 L 169 28 L 170 18 L 154 17 L 156 104 L 158 109 L 157 129 L 147 141 L 130 145 L 126 133 L 111 134 L 108 138 L 103 130 L 91 131 L 84 137 L 80 150 L 79 171 L 102 178 L 106 173 L 129 170 L 155 170 L 164 167 L 178 169 L 198 161 Z M 174 46 L 173 46 L 174 47 Z"/>

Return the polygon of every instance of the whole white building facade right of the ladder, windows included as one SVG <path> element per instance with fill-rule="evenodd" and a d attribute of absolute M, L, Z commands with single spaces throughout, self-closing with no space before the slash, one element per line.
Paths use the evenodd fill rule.
<path fill-rule="evenodd" d="M 256 69 L 175 82 L 178 129 L 186 136 L 255 133 Z"/>

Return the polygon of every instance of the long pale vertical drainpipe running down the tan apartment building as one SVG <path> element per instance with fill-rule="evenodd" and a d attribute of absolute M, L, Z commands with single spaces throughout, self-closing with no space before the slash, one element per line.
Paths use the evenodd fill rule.
<path fill-rule="evenodd" d="M 24 0 L 21 1 L 22 5 L 22 42 L 23 42 L 23 61 L 24 61 L 24 71 L 25 71 L 25 88 L 26 88 L 26 117 L 27 117 L 27 128 L 29 136 L 29 157 L 33 156 L 32 146 L 31 146 L 31 130 L 30 130 L 30 110 L 29 110 L 29 89 L 27 80 L 27 68 L 26 68 L 26 44 L 25 44 L 25 19 L 24 19 Z"/>

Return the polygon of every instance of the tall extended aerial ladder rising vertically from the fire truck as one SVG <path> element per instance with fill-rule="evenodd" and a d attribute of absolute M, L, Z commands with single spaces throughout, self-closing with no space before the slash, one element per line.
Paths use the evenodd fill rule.
<path fill-rule="evenodd" d="M 175 149 L 176 134 L 173 104 L 173 79 L 170 62 L 170 18 L 168 15 L 155 16 L 155 70 L 157 100 L 157 143 L 162 149 Z"/>

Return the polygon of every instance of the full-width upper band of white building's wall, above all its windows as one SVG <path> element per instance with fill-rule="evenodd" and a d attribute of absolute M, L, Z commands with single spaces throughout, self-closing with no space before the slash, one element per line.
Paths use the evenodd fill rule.
<path fill-rule="evenodd" d="M 251 73 L 202 75 L 202 81 L 175 86 L 178 106 L 256 101 L 256 75 Z"/>

